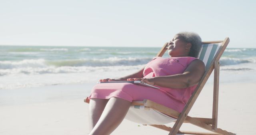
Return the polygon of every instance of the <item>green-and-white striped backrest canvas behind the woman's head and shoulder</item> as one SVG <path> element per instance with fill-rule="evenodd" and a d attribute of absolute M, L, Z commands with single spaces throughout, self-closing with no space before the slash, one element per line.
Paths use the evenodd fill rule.
<path fill-rule="evenodd" d="M 217 44 L 203 44 L 200 52 L 199 52 L 199 59 L 204 62 L 204 65 L 206 66 L 206 69 L 210 67 L 210 63 L 212 62 L 212 59 L 214 58 L 215 54 L 220 49 L 222 43 Z"/>

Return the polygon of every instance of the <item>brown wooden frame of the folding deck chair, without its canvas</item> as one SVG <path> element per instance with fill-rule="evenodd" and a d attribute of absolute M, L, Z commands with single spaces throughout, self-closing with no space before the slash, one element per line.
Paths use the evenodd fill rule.
<path fill-rule="evenodd" d="M 171 117 L 174 117 L 176 120 L 173 127 L 167 127 L 165 125 L 151 125 L 153 127 L 157 127 L 166 131 L 169 131 L 170 133 L 168 135 L 176 135 L 177 133 L 183 133 L 183 134 L 189 134 L 189 135 L 236 135 L 235 133 L 231 133 L 225 130 L 222 130 L 220 128 L 217 128 L 218 123 L 218 92 L 219 92 L 219 73 L 220 73 L 220 57 L 222 56 L 224 50 L 226 49 L 226 46 L 229 43 L 229 38 L 225 38 L 223 41 L 210 41 L 210 42 L 202 42 L 202 44 L 213 44 L 213 43 L 221 43 L 220 49 L 214 56 L 210 67 L 206 69 L 206 72 L 204 73 L 203 77 L 198 83 L 198 86 L 192 93 L 190 99 L 186 103 L 184 109 L 181 113 L 178 111 L 165 107 L 164 105 L 160 105 L 158 103 L 155 103 L 153 101 L 150 101 L 148 99 L 144 99 L 144 101 L 133 101 L 132 105 L 144 105 L 145 107 L 155 109 L 157 111 L 160 111 L 164 114 L 167 114 Z M 164 44 L 164 46 L 161 48 L 161 50 L 158 52 L 156 56 L 162 57 L 164 53 L 166 52 L 167 48 L 166 46 L 168 43 Z M 198 95 L 202 91 L 202 88 L 204 87 L 206 81 L 210 77 L 210 74 L 212 73 L 214 69 L 214 87 L 213 87 L 213 108 L 212 108 L 212 118 L 200 118 L 200 117 L 190 117 L 188 116 L 188 113 L 192 106 L 194 105 Z M 88 98 L 84 99 L 84 102 L 89 103 Z M 204 132 L 194 132 L 194 131 L 180 131 L 180 127 L 182 123 L 191 123 L 193 125 L 196 125 L 198 127 L 204 128 L 208 131 L 212 131 L 214 133 L 204 133 Z"/>

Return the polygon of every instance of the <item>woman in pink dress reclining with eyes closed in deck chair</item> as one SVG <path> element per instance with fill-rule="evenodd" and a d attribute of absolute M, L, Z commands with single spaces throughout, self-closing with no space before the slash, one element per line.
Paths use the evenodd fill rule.
<path fill-rule="evenodd" d="M 124 119 L 133 100 L 150 99 L 179 112 L 205 72 L 196 59 L 202 44 L 198 34 L 181 32 L 168 43 L 170 58 L 156 57 L 140 71 L 119 79 L 100 81 L 136 81 L 160 87 L 154 89 L 132 83 L 99 83 L 89 97 L 90 135 L 109 135 Z"/>

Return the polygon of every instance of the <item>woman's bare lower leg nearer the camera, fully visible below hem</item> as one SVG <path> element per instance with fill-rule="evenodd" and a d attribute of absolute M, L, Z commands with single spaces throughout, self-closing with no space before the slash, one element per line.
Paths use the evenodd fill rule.
<path fill-rule="evenodd" d="M 123 121 L 131 105 L 130 101 L 111 97 L 90 135 L 109 135 Z"/>

